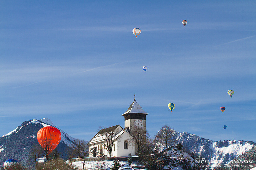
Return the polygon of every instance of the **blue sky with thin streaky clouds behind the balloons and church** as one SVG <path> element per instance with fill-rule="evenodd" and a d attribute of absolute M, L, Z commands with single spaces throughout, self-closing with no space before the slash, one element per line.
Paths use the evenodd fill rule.
<path fill-rule="evenodd" d="M 136 93 L 152 137 L 256 142 L 255 18 L 255 1 L 1 1 L 0 136 L 47 117 L 89 141 Z"/>

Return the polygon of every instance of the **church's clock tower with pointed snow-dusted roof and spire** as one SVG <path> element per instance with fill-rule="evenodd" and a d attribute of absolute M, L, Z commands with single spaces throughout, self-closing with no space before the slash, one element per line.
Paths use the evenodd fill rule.
<path fill-rule="evenodd" d="M 145 112 L 136 102 L 134 94 L 133 103 L 130 105 L 127 111 L 122 114 L 122 116 L 124 116 L 124 128 L 128 127 L 130 131 L 132 131 L 134 127 L 146 130 L 146 115 L 148 115 L 148 113 Z"/>

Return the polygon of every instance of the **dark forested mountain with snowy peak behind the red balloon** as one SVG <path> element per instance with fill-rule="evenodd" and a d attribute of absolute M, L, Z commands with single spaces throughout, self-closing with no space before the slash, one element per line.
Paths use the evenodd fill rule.
<path fill-rule="evenodd" d="M 3 164 L 4 161 L 12 158 L 16 159 L 18 162 L 23 162 L 24 164 L 29 165 L 31 160 L 29 160 L 28 155 L 34 144 L 38 142 L 36 137 L 37 132 L 39 129 L 46 126 L 56 127 L 50 119 L 33 119 L 23 122 L 10 133 L 3 135 L 0 138 L 0 164 Z M 64 151 L 68 146 L 71 146 L 71 143 L 73 143 L 75 139 L 62 130 L 60 131 L 62 139 L 56 149 L 58 149 L 58 152 L 62 154 L 64 159 L 66 159 L 67 153 Z"/>

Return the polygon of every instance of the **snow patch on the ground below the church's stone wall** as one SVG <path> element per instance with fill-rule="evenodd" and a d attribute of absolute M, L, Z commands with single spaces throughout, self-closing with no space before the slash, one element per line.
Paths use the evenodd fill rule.
<path fill-rule="evenodd" d="M 136 166 L 136 163 L 138 163 L 133 162 L 131 165 L 129 165 L 127 161 L 119 162 L 121 164 L 121 168 L 119 170 L 132 169 L 131 166 Z M 68 161 L 65 163 L 68 163 Z M 78 167 L 79 169 L 83 169 L 83 161 L 73 162 L 72 165 Z M 85 161 L 84 164 L 84 168 L 87 170 L 98 170 L 100 166 L 102 166 L 102 168 L 105 170 L 110 170 L 110 168 L 113 166 L 113 161 Z"/>

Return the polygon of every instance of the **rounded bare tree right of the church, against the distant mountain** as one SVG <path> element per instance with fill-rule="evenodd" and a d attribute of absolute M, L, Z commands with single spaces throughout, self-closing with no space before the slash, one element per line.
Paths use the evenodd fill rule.
<path fill-rule="evenodd" d="M 176 141 L 174 138 L 174 130 L 169 125 L 162 126 L 155 136 L 155 141 L 165 145 L 167 148 Z"/>

